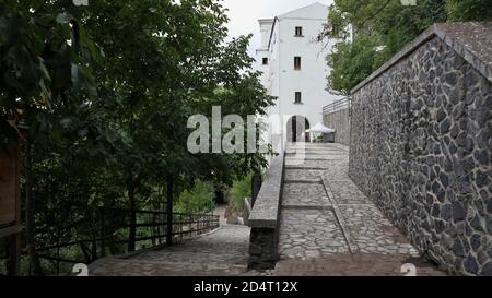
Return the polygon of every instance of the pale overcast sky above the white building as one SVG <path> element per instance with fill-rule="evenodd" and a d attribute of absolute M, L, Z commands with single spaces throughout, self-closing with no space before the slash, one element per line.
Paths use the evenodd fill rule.
<path fill-rule="evenodd" d="M 224 0 L 222 4 L 229 9 L 231 38 L 250 33 L 255 35 L 249 45 L 249 55 L 253 56 L 260 46 L 259 19 L 271 19 L 316 2 L 329 5 L 332 0 Z"/>

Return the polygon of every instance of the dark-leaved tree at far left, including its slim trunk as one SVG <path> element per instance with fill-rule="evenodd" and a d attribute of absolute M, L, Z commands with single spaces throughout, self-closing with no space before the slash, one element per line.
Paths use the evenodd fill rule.
<path fill-rule="evenodd" d="M 63 119 L 96 96 L 90 62 L 99 57 L 70 11 L 45 11 L 45 1 L 2 0 L 0 5 L 0 144 L 25 141 L 25 226 L 34 274 L 32 153 L 56 145 L 67 133 Z M 21 133 L 20 123 L 28 131 Z M 86 128 L 83 128 L 84 130 Z"/>

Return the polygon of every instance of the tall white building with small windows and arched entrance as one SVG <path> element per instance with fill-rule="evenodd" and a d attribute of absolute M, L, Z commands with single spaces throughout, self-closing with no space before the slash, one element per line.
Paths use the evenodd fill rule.
<path fill-rule="evenodd" d="M 282 119 L 263 138 L 274 144 L 280 141 L 282 147 L 285 142 L 308 140 L 304 130 L 321 122 L 323 107 L 341 98 L 326 91 L 330 71 L 326 56 L 335 40 L 316 41 L 327 15 L 327 5 L 314 3 L 259 20 L 261 47 L 256 51 L 257 69 L 263 72 L 261 81 L 270 95 L 278 97 L 269 116 Z"/>

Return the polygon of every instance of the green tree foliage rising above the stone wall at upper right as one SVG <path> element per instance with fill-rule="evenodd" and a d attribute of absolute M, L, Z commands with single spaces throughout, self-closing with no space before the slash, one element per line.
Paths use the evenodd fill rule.
<path fill-rule="evenodd" d="M 333 69 L 328 76 L 328 88 L 348 95 L 351 88 L 434 23 L 492 20 L 488 2 L 420 0 L 417 5 L 402 5 L 400 0 L 336 0 L 318 38 L 339 40 L 327 58 Z"/>

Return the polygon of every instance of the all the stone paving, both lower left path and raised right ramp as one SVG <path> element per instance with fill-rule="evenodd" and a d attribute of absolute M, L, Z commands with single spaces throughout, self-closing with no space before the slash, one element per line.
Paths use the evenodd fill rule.
<path fill-rule="evenodd" d="M 91 275 L 442 275 L 396 229 L 348 176 L 348 147 L 288 147 L 276 270 L 247 270 L 249 231 L 224 225 L 180 245 L 109 257 L 90 265 Z M 222 213 L 223 211 L 220 211 Z"/>

